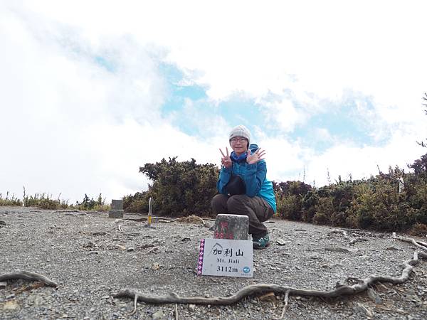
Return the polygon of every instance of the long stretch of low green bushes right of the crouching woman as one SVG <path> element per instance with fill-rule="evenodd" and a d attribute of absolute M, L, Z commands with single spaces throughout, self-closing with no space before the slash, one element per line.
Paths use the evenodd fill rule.
<path fill-rule="evenodd" d="M 427 225 L 427 154 L 408 167 L 413 173 L 390 167 L 367 180 L 338 178 L 321 188 L 300 181 L 274 183 L 278 216 L 349 228 L 418 230 Z"/>

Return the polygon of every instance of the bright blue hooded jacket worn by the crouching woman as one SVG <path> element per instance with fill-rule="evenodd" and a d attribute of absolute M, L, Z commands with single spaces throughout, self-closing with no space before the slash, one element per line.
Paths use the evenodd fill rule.
<path fill-rule="evenodd" d="M 249 146 L 251 149 L 251 154 L 258 149 L 256 144 L 251 144 Z M 276 201 L 273 191 L 273 183 L 268 181 L 266 178 L 267 175 L 267 166 L 264 160 L 258 161 L 256 164 L 247 164 L 246 158 L 241 161 L 233 161 L 233 166 L 231 168 L 223 167 L 219 171 L 218 182 L 216 183 L 216 188 L 221 194 L 227 194 L 226 184 L 230 181 L 231 174 L 233 176 L 241 176 L 246 185 L 246 196 L 254 197 L 258 196 L 265 201 L 273 208 L 276 212 Z"/>

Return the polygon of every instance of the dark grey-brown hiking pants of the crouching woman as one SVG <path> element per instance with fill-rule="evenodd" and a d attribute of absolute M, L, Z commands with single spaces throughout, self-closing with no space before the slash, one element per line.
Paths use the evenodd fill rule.
<path fill-rule="evenodd" d="M 236 196 L 226 196 L 217 194 L 211 202 L 212 210 L 216 215 L 248 215 L 249 233 L 255 237 L 263 237 L 267 234 L 267 227 L 263 222 L 270 219 L 274 211 L 263 198 L 248 197 L 244 194 Z"/>

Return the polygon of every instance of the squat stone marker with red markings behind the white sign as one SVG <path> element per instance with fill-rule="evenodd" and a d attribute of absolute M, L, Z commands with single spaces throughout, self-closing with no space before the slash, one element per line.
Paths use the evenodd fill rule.
<path fill-rule="evenodd" d="M 248 229 L 247 215 L 216 215 L 214 238 L 248 240 Z"/>

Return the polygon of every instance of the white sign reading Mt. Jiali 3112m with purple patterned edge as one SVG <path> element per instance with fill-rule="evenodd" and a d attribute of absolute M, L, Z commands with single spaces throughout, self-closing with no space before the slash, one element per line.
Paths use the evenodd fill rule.
<path fill-rule="evenodd" d="M 253 277 L 252 241 L 201 239 L 197 274 Z"/>

